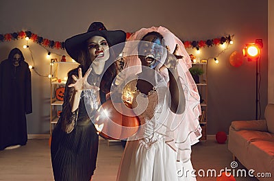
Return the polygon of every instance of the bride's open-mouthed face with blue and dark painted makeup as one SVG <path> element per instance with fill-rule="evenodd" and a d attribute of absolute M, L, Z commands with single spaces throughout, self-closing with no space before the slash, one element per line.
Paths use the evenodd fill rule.
<path fill-rule="evenodd" d="M 147 36 L 139 47 L 142 65 L 155 69 L 160 63 L 163 54 L 161 39 L 157 36 Z"/>

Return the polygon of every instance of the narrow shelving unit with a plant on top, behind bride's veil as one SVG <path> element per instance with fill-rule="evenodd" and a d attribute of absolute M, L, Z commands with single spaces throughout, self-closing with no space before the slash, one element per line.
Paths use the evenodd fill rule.
<path fill-rule="evenodd" d="M 199 95 L 201 97 L 201 116 L 199 118 L 200 125 L 202 128 L 202 137 L 200 141 L 206 141 L 207 137 L 207 127 L 208 127 L 208 63 L 192 63 L 192 67 L 198 66 L 203 69 L 203 74 L 199 75 L 199 83 L 196 83 L 199 90 Z"/>

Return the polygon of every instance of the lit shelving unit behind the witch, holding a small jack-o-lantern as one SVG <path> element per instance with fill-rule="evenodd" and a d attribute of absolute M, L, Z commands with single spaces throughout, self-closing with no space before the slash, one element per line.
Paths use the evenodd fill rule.
<path fill-rule="evenodd" d="M 66 85 L 67 73 L 78 67 L 77 62 L 58 62 L 51 59 L 51 98 L 50 98 L 50 120 L 49 133 L 52 134 L 53 128 L 59 119 L 58 111 L 62 111 L 63 101 L 56 97 L 55 92 L 58 88 Z M 64 94 L 64 93 L 63 93 Z"/>

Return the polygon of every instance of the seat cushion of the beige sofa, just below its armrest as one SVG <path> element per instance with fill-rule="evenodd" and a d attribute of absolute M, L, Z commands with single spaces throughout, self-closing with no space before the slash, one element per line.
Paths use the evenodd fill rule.
<path fill-rule="evenodd" d="M 247 142 L 253 141 L 273 141 L 274 142 L 274 134 L 269 132 L 259 132 L 253 130 L 241 130 L 236 132 L 239 138 L 244 138 Z"/>

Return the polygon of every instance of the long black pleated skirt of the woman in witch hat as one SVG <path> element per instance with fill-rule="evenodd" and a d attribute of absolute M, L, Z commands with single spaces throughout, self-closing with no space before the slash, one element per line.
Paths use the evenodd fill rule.
<path fill-rule="evenodd" d="M 92 123 L 76 125 L 69 134 L 56 125 L 51 138 L 55 180 L 90 180 L 96 168 L 98 142 L 99 137 Z"/>

